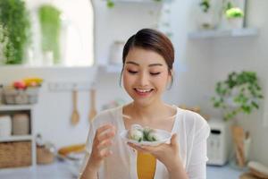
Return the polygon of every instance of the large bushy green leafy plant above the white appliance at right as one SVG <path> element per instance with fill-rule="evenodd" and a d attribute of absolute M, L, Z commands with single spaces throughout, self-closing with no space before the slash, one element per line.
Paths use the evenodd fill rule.
<path fill-rule="evenodd" d="M 230 72 L 225 81 L 216 83 L 215 92 L 214 107 L 222 108 L 226 121 L 239 114 L 251 114 L 264 98 L 255 72 Z"/>

